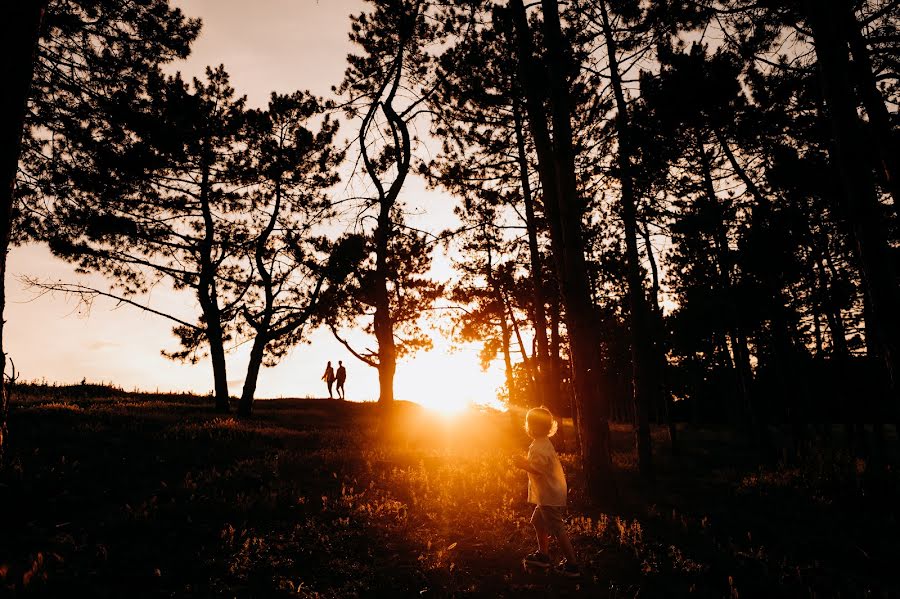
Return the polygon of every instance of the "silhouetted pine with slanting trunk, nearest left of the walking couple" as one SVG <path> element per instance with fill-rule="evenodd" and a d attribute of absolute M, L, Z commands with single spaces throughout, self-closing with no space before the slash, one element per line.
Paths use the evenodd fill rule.
<path fill-rule="evenodd" d="M 337 122 L 326 115 L 317 132 L 307 128 L 324 108 L 308 93 L 272 94 L 268 109 L 251 118 L 247 163 L 240 165 L 253 185 L 244 225 L 252 267 L 241 307 L 253 346 L 238 404 L 242 416 L 250 414 L 260 367 L 276 364 L 303 338 L 320 316 L 323 290 L 327 295 L 330 285 L 340 286 L 354 265 L 348 255 L 328 258 L 349 246 L 332 247 L 316 235 L 332 215 L 325 190 L 337 183 L 343 159 L 333 146 Z"/>

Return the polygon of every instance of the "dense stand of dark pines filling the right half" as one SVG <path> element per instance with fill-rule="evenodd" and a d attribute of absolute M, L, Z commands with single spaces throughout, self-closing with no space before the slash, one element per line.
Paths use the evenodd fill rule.
<path fill-rule="evenodd" d="M 679 419 L 896 421 L 898 3 L 439 14 L 423 172 L 464 199 L 457 336 L 574 418 L 595 497 L 611 418 L 647 476 L 653 419 L 673 446 Z"/>

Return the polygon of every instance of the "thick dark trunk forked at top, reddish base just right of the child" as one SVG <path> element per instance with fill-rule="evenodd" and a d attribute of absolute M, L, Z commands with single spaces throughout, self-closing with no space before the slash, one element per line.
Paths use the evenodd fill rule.
<path fill-rule="evenodd" d="M 572 143 L 571 102 L 562 73 L 566 52 L 555 0 L 542 0 L 547 59 L 557 65 L 548 71 L 553 140 L 544 113 L 544 93 L 535 79 L 531 30 L 522 0 L 510 3 L 518 39 L 519 75 L 526 110 L 538 155 L 538 173 L 550 221 L 557 279 L 565 303 L 566 329 L 572 354 L 572 379 L 578 418 L 581 455 L 589 494 L 611 503 L 616 497 L 609 437 L 609 392 L 603 372 L 597 315 L 591 301 L 582 242 L 583 202 L 578 197 Z"/>

